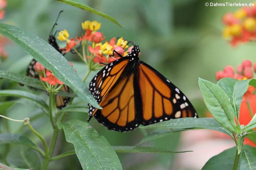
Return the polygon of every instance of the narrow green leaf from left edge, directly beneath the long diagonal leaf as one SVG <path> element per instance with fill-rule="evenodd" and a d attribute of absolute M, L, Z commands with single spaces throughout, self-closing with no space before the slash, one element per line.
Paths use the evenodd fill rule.
<path fill-rule="evenodd" d="M 12 81 L 15 81 L 15 82 L 18 82 L 18 83 L 21 83 L 24 85 L 28 85 L 28 86 L 32 86 L 34 88 L 45 90 L 44 86 L 40 83 L 39 80 L 25 76 L 25 75 L 20 75 L 17 73 L 0 70 L 0 78 L 10 79 Z"/>

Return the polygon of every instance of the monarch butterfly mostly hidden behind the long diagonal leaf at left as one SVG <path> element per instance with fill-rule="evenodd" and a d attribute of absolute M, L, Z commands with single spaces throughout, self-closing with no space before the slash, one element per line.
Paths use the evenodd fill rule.
<path fill-rule="evenodd" d="M 48 43 L 54 47 L 58 52 L 60 52 L 62 54 L 62 51 L 59 47 L 59 45 L 56 42 L 56 38 L 55 38 L 55 34 L 57 33 L 57 31 L 53 34 L 53 29 L 55 27 L 55 25 L 57 25 L 57 20 L 60 16 L 60 13 L 63 11 L 59 12 L 59 15 L 49 33 L 49 38 L 48 38 Z M 63 54 L 62 54 L 63 55 Z M 35 79 L 39 80 L 39 75 L 38 73 L 35 71 L 35 64 L 36 64 L 36 60 L 32 59 L 31 62 L 29 63 L 28 67 L 27 67 L 27 71 L 26 71 L 26 75 Z M 31 89 L 36 89 L 34 87 L 30 87 Z M 69 92 L 69 87 L 67 85 L 63 85 L 61 88 L 63 91 Z M 70 97 L 65 97 L 65 96 L 59 96 L 59 95 L 55 95 L 55 102 L 56 102 L 56 106 L 58 109 L 62 109 L 63 107 L 65 107 L 68 102 L 70 101 Z"/>

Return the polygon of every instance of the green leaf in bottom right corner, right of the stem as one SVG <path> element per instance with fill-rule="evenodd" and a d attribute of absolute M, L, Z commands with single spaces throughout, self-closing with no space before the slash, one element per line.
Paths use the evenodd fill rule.
<path fill-rule="evenodd" d="M 243 149 L 240 155 L 240 170 L 255 170 L 256 158 L 251 152 Z"/>

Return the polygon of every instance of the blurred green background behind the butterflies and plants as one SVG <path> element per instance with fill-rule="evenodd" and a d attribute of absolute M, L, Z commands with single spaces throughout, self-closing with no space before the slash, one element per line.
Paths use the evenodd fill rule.
<path fill-rule="evenodd" d="M 55 30 L 66 29 L 70 37 L 80 36 L 84 33 L 84 30 L 81 29 L 81 22 L 85 20 L 101 22 L 99 31 L 106 36 L 106 40 L 109 41 L 113 37 L 124 37 L 138 44 L 141 49 L 140 59 L 178 86 L 194 104 L 201 117 L 204 116 L 206 109 L 199 91 L 198 77 L 216 82 L 215 73 L 222 70 L 226 65 L 236 67 L 245 59 L 255 62 L 254 43 L 241 44 L 237 48 L 233 48 L 222 37 L 224 28 L 221 22 L 222 16 L 227 12 L 235 12 L 240 7 L 206 7 L 205 3 L 208 1 L 201 0 L 82 1 L 88 6 L 115 18 L 123 27 L 120 28 L 100 16 L 53 0 L 9 0 L 7 2 L 6 15 L 2 22 L 32 32 L 46 41 L 61 10 L 64 12 L 61 14 Z M 225 3 L 226 0 L 217 2 Z M 250 3 L 251 1 L 243 2 Z M 60 46 L 64 45 L 61 42 L 58 43 Z M 13 42 L 8 44 L 6 51 L 9 57 L 0 65 L 0 69 L 25 74 L 26 67 L 32 57 Z M 74 63 L 74 68 L 82 77 L 86 68 L 79 64 L 79 58 L 72 54 L 66 56 L 68 60 Z M 93 74 L 95 73 L 90 75 L 91 78 Z M 89 79 L 87 83 L 90 81 Z M 0 85 L 1 89 L 30 90 L 8 80 L 1 80 Z M 47 95 L 42 92 L 38 92 L 38 95 L 47 99 Z M 16 98 L 9 97 L 7 99 L 12 101 Z M 1 112 L 16 119 L 30 117 L 36 130 L 43 136 L 50 136 L 51 127 L 47 116 L 41 114 L 36 107 L 28 107 L 26 104 L 30 103 L 26 100 L 19 99 L 19 102 L 21 104 L 14 104 L 7 110 L 4 110 L 0 105 Z M 69 114 L 67 119 L 78 118 L 86 121 L 87 117 L 87 114 L 73 113 Z M 7 126 L 6 124 L 9 128 L 3 130 L 5 129 L 4 126 Z M 108 131 L 94 119 L 90 124 L 96 128 L 100 135 L 104 135 L 111 145 L 132 146 L 143 137 L 140 129 L 119 133 Z M 1 130 L 2 133 L 25 134 L 35 143 L 39 143 L 38 139 L 22 123 L 1 120 Z M 179 133 L 174 133 L 145 143 L 143 146 L 177 150 L 180 142 L 179 136 Z M 61 133 L 55 150 L 56 153 L 72 148 L 71 144 L 66 144 L 64 141 L 65 136 Z M 11 149 L 15 150 L 16 148 L 12 146 Z M 1 150 L 4 153 L 5 147 L 2 147 Z M 122 153 L 118 156 L 124 169 L 153 170 L 172 169 L 176 155 Z M 9 157 L 9 159 L 13 159 L 10 153 Z M 76 156 L 71 156 L 52 162 L 49 169 L 64 170 L 74 167 L 81 169 Z"/>

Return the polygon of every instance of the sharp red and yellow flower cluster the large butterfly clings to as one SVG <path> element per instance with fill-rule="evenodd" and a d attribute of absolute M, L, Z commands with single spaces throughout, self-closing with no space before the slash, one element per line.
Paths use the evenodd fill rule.
<path fill-rule="evenodd" d="M 57 39 L 66 41 L 66 47 L 62 49 L 65 50 L 64 53 L 68 53 L 73 49 L 84 63 L 91 67 L 90 61 L 102 65 L 103 63 L 110 63 L 122 56 L 126 56 L 131 51 L 132 47 L 129 48 L 128 42 L 123 38 L 119 38 L 117 41 L 115 38 L 112 38 L 109 42 L 105 41 L 103 43 L 106 37 L 103 36 L 103 33 L 98 32 L 100 26 L 101 23 L 97 21 L 82 22 L 82 29 L 85 30 L 85 33 L 81 37 L 76 37 L 76 39 L 68 39 L 69 34 L 67 30 L 60 31 Z M 82 42 L 83 54 L 80 54 L 75 49 L 75 46 L 80 42 Z"/>

